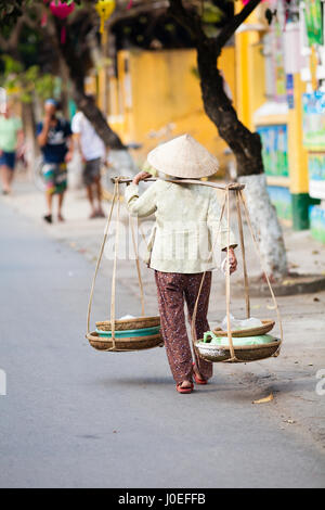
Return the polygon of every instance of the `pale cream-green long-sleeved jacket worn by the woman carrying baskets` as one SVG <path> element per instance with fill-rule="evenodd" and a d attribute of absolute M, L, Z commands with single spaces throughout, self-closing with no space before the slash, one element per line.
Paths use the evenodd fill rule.
<path fill-rule="evenodd" d="M 220 241 L 214 244 L 220 205 L 212 188 L 157 180 L 141 196 L 138 188 L 128 186 L 125 196 L 132 216 L 156 216 L 145 257 L 151 268 L 162 272 L 194 273 L 219 266 L 220 250 L 227 245 L 227 228 L 222 220 L 221 244 Z M 212 243 L 214 255 L 211 255 Z M 230 245 L 236 245 L 232 232 Z"/>

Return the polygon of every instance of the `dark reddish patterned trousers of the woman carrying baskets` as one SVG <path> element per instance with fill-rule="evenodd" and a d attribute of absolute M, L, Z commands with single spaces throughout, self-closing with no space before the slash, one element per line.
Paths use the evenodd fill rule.
<path fill-rule="evenodd" d="M 192 381 L 193 358 L 186 332 L 184 301 L 187 305 L 188 320 L 197 298 L 203 273 L 183 275 L 179 272 L 155 271 L 158 305 L 161 319 L 161 333 L 169 366 L 177 384 Z M 211 271 L 206 273 L 196 314 L 196 334 L 198 339 L 208 331 L 207 320 L 211 289 Z M 212 377 L 212 364 L 195 354 L 195 362 L 205 379 Z"/>

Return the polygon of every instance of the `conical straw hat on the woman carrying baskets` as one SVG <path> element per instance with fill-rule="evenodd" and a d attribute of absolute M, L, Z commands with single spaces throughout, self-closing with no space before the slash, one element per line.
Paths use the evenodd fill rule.
<path fill-rule="evenodd" d="M 191 135 L 156 146 L 148 153 L 147 162 L 158 171 L 187 179 L 211 176 L 218 170 L 218 160 Z"/>

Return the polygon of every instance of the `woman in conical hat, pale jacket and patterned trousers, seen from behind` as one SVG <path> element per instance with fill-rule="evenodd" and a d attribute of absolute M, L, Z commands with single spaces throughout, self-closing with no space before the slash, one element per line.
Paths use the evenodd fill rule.
<path fill-rule="evenodd" d="M 155 270 L 161 333 L 173 379 L 179 393 L 193 391 L 212 377 L 212 364 L 196 356 L 194 360 L 187 337 L 184 303 L 188 319 L 206 272 L 195 321 L 197 337 L 208 331 L 207 320 L 211 288 L 211 271 L 219 264 L 212 254 L 217 233 L 221 234 L 221 250 L 230 251 L 231 272 L 236 270 L 236 242 L 227 227 L 220 224 L 220 205 L 216 191 L 199 183 L 182 183 L 182 179 L 199 179 L 216 174 L 217 160 L 190 135 L 183 135 L 154 149 L 147 156 L 150 165 L 180 183 L 158 179 L 141 196 L 138 184 L 152 177 L 142 171 L 126 189 L 130 213 L 138 217 L 156 216 L 150 241 L 148 266 Z"/>

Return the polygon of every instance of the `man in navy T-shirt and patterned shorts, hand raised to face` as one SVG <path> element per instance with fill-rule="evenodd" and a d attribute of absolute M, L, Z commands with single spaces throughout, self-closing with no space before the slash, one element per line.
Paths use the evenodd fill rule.
<path fill-rule="evenodd" d="M 70 124 L 57 117 L 58 103 L 48 99 L 44 119 L 37 126 L 37 140 L 43 155 L 43 177 L 47 186 L 48 212 L 43 219 L 52 224 L 53 195 L 57 194 L 57 219 L 64 221 L 62 206 L 67 187 L 67 163 L 73 158 L 74 143 Z"/>

